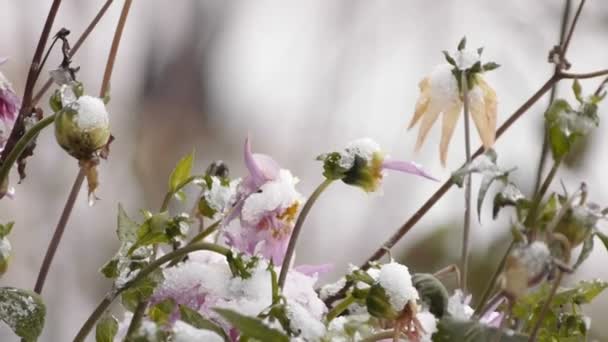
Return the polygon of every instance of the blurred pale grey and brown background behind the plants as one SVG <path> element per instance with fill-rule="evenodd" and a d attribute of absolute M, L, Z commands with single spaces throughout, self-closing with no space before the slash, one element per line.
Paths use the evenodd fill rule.
<path fill-rule="evenodd" d="M 0 1 L 0 56 L 10 58 L 2 72 L 20 95 L 50 2 Z M 122 3 L 114 2 L 74 58 L 79 79 L 92 94 L 99 92 Z M 102 4 L 65 0 L 53 34 L 66 27 L 74 42 Z M 255 151 L 274 156 L 299 176 L 305 195 L 322 180 L 314 158 L 359 137 L 371 137 L 391 156 L 415 160 L 447 179 L 464 160 L 462 122 L 447 168 L 439 164 L 438 127 L 414 153 L 416 132 L 406 125 L 419 80 L 443 62 L 442 50 L 454 50 L 466 35 L 469 47 L 485 47 L 484 60 L 502 65 L 487 76 L 498 94 L 501 123 L 551 74 L 547 54 L 558 41 L 562 8 L 563 1 L 556 0 L 135 1 L 112 81 L 109 110 L 116 141 L 99 167 L 101 200 L 88 207 L 82 189 L 43 292 L 48 314 L 41 340 L 71 340 L 110 288 L 98 269 L 118 246 L 117 204 L 133 217 L 141 208 L 158 208 L 172 167 L 193 148 L 198 170 L 223 159 L 232 175 L 243 175 L 242 144 L 249 134 Z M 589 1 L 568 52 L 572 71 L 608 67 L 607 43 L 608 3 Z M 57 50 L 47 67 L 59 61 Z M 598 82 L 584 81 L 583 88 L 590 92 Z M 571 98 L 570 85 L 562 82 L 558 95 Z M 547 98 L 540 100 L 495 146 L 499 164 L 518 167 L 515 180 L 526 192 L 534 183 L 546 106 Z M 602 104 L 600 115 L 607 109 Z M 604 206 L 608 135 L 600 132 L 605 129 L 602 122 L 558 175 L 571 189 L 588 182 L 591 200 Z M 473 141 L 477 146 L 476 134 Z M 33 287 L 77 172 L 77 162 L 57 146 L 52 130 L 44 131 L 29 159 L 28 177 L 15 184 L 16 198 L 0 203 L 0 220 L 16 222 L 9 236 L 12 264 L 0 285 Z M 475 177 L 474 194 L 479 180 Z M 393 174 L 381 196 L 331 187 L 309 216 L 297 263 L 333 262 L 334 271 L 322 280 L 337 279 L 349 263 L 365 260 L 438 186 Z M 462 196 L 462 190 L 452 189 L 393 256 L 414 271 L 457 263 Z M 475 291 L 485 286 L 487 270 L 507 247 L 512 213 L 492 220 L 492 197 L 490 192 L 481 223 L 476 215 L 473 219 Z M 568 282 L 608 279 L 608 252 L 596 247 Z M 608 338 L 608 327 L 601 325 L 606 307 L 608 294 L 587 308 L 599 340 Z M 13 339 L 2 326 L 0 340 Z"/>

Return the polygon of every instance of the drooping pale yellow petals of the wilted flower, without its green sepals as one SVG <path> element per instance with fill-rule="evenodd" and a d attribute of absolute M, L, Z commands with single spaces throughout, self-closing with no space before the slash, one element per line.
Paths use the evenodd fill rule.
<path fill-rule="evenodd" d="M 412 128 L 421 121 L 416 140 L 416 150 L 418 150 L 439 114 L 443 113 L 439 144 L 439 155 L 443 166 L 447 160 L 448 145 L 463 108 L 462 96 L 458 82 L 452 74 L 452 68 L 449 64 L 441 64 L 420 82 L 420 97 L 409 125 L 409 128 Z M 483 146 L 488 149 L 494 144 L 496 136 L 496 93 L 481 74 L 475 74 L 474 77 L 475 82 L 469 90 L 469 109 Z"/>

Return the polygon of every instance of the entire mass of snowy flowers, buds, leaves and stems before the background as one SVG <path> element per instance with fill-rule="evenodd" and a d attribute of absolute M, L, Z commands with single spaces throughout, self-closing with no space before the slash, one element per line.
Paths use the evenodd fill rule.
<path fill-rule="evenodd" d="M 58 6 L 60 1 L 53 3 Z M 45 67 L 43 52 L 54 14 L 49 14 L 23 82 L 24 96 L 19 97 L 0 73 L 0 198 L 20 199 L 14 186 L 25 178 L 27 159 L 35 157 L 36 137 L 47 127 L 54 128 L 57 145 L 78 161 L 80 171 L 33 291 L 0 287 L 0 320 L 26 342 L 36 341 L 44 329 L 42 290 L 81 184 L 86 180 L 92 206 L 97 168 L 110 156 L 114 137 L 109 82 L 130 4 L 124 4 L 99 96 L 78 81 L 78 73 L 86 71 L 72 65 L 76 51 L 68 30 L 57 32 L 49 47 L 61 43 L 61 65 L 54 70 Z M 455 51 L 443 52 L 445 63 L 420 81 L 420 96 L 412 105 L 409 126 L 419 126 L 414 149 L 427 140 L 441 115 L 439 160 L 447 167 L 448 147 L 463 116 L 467 159 L 458 167 L 452 164 L 451 177 L 359 266 L 336 265 L 333 260 L 320 265 L 298 262 L 298 238 L 306 231 L 306 218 L 318 198 L 336 186 L 381 193 L 389 170 L 412 182 L 440 182 L 432 172 L 416 162 L 391 158 L 373 139 L 361 138 L 337 150 L 319 151 L 321 181 L 305 194 L 299 189 L 297 172 L 268 154 L 254 152 L 250 137 L 243 139 L 242 150 L 247 172 L 238 177 L 222 161 L 197 170 L 194 154 L 184 156 L 168 177 L 160 208 L 141 209 L 136 215 L 118 204 L 120 247 L 95 275 L 111 280 L 112 287 L 83 318 L 74 341 L 85 341 L 93 330 L 97 342 L 586 341 L 592 319 L 583 313 L 583 306 L 608 282 L 570 282 L 566 287 L 563 280 L 576 273 L 597 241 L 608 249 L 608 234 L 602 229 L 608 208 L 590 201 L 585 182 L 565 179 L 557 190 L 553 184 L 566 159 L 598 129 L 599 104 L 608 84 L 607 70 L 568 71 L 566 52 L 578 13 L 564 24 L 568 38 L 550 52 L 555 72 L 500 127 L 498 95 L 485 78 L 499 65 L 483 62 L 483 49 L 468 48 L 464 38 Z M 0 65 L 5 62 L 0 58 Z M 47 87 L 36 96 L 33 93 L 45 74 L 54 88 L 48 108 L 37 103 Z M 583 92 L 581 83 L 596 77 L 604 80 L 594 91 Z M 493 146 L 535 102 L 564 81 L 572 82 L 574 100 L 552 93 L 540 139 L 545 148 L 538 181 L 532 191 L 525 191 L 512 177 L 522 171 L 516 171 L 515 165 L 499 165 Z M 477 151 L 470 146 L 470 119 L 481 141 Z M 552 165 L 548 172 L 545 161 Z M 9 178 L 11 170 L 18 172 L 19 182 Z M 476 213 L 472 177 L 481 178 Z M 454 186 L 464 190 L 462 257 L 439 270 L 414 272 L 394 259 L 391 249 Z M 495 195 L 486 201 L 490 188 Z M 193 189 L 196 196 L 188 198 L 186 194 L 192 192 L 186 190 Z M 421 199 L 408 194 L 406 200 Z M 485 283 L 485 290 L 472 293 L 470 222 L 476 214 L 486 224 L 481 221 L 486 202 L 491 202 L 494 219 L 509 215 L 510 223 L 502 229 L 511 242 L 492 272 L 475 275 L 476 282 Z M 9 218 L 0 224 L 0 274 L 10 267 L 13 249 L 23 248 L 10 243 L 14 226 L 19 223 Z M 320 277 L 334 267 L 348 271 L 320 284 Z"/>

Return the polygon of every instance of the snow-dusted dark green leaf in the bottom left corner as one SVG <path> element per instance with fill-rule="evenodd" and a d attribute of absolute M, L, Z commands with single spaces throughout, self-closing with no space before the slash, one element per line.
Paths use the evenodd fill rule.
<path fill-rule="evenodd" d="M 14 287 L 0 288 L 0 319 L 24 341 L 38 339 L 45 315 L 46 307 L 38 294 Z"/>

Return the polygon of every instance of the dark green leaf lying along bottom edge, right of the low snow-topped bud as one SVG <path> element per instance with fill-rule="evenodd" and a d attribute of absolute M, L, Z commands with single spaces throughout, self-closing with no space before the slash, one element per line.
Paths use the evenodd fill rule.
<path fill-rule="evenodd" d="M 437 332 L 432 336 L 433 342 L 527 342 L 528 336 L 500 331 L 477 321 L 465 321 L 444 316 L 437 322 Z"/>

